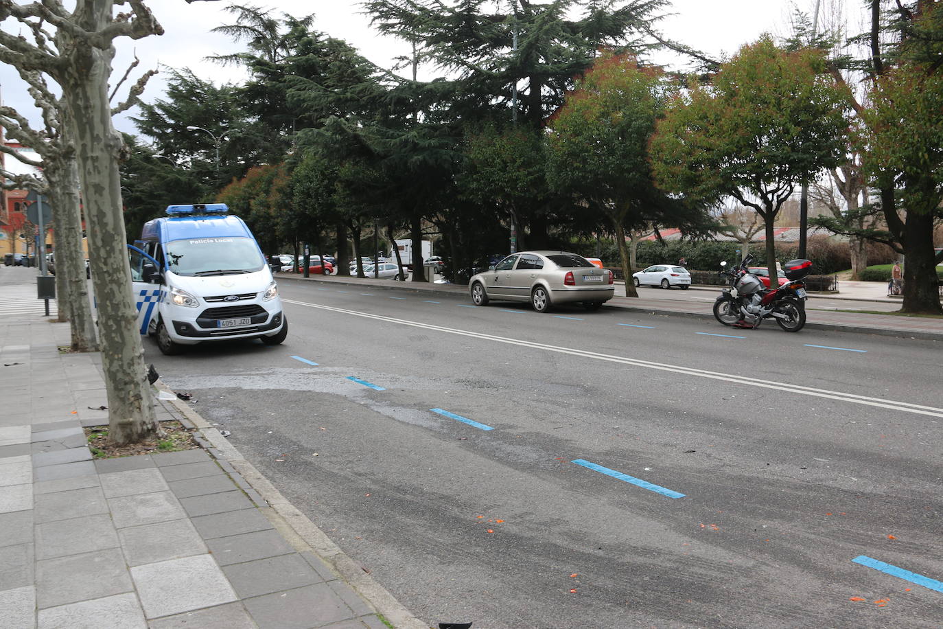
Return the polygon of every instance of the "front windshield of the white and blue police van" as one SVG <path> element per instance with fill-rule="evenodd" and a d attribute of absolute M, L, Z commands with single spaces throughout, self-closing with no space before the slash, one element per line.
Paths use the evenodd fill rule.
<path fill-rule="evenodd" d="M 198 238 L 167 243 L 167 268 L 178 275 L 230 275 L 265 268 L 255 240 L 248 238 Z"/>

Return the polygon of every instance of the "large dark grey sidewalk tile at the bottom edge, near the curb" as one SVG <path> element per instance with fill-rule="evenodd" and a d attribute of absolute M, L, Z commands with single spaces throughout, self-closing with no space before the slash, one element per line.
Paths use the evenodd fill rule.
<path fill-rule="evenodd" d="M 260 629 L 311 629 L 356 618 L 326 583 L 256 596 L 242 603 Z"/>

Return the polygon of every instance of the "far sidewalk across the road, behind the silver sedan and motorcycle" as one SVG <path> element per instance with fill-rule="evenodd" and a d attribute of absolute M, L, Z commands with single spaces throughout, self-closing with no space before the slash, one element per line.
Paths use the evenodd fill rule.
<path fill-rule="evenodd" d="M 471 297 L 467 286 L 458 284 L 430 284 L 426 282 L 398 282 L 384 279 L 361 279 L 343 275 L 311 275 L 304 277 L 301 274 L 279 273 L 278 281 L 283 282 L 322 282 L 327 284 L 344 284 L 350 286 L 371 286 L 375 289 L 401 290 L 420 293 L 447 293 L 456 296 L 463 296 L 469 299 Z M 858 284 L 871 284 L 870 282 L 860 282 Z M 323 284 L 326 285 L 326 284 Z M 669 294 L 676 294 L 677 298 L 653 299 L 646 297 L 646 289 L 639 292 L 639 297 L 620 296 L 622 287 L 616 289 L 616 296 L 606 302 L 608 307 L 620 307 L 637 312 L 645 312 L 659 315 L 673 315 L 685 317 L 698 317 L 703 319 L 714 319 L 712 313 L 713 301 L 693 301 L 682 297 L 681 290 L 672 290 Z M 696 287 L 691 290 L 698 290 L 700 294 L 717 295 L 720 294 L 720 287 Z M 870 295 L 867 297 L 855 297 L 847 295 L 847 299 L 856 299 L 861 301 L 874 301 L 873 287 L 859 287 L 859 295 Z M 709 291 L 705 293 L 704 291 Z M 690 291 L 687 291 L 688 293 Z M 905 317 L 894 314 L 871 314 L 869 312 L 846 312 L 835 309 L 819 309 L 817 303 L 825 299 L 835 299 L 831 294 L 813 294 L 806 302 L 807 319 L 805 327 L 819 330 L 836 330 L 841 332 L 857 332 L 862 334 L 876 334 L 881 336 L 905 337 L 911 339 L 927 339 L 943 341 L 943 319 L 932 317 Z M 885 302 L 899 304 L 900 298 L 885 298 Z M 720 325 L 720 323 L 718 323 Z M 775 323 L 765 322 L 764 325 L 773 325 Z"/>

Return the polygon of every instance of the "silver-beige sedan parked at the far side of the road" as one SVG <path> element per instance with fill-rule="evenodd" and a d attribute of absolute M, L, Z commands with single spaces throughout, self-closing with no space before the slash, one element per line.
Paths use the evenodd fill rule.
<path fill-rule="evenodd" d="M 558 304 L 582 303 L 595 310 L 615 293 L 613 274 L 585 257 L 563 251 L 522 251 L 511 254 L 469 280 L 472 302 L 530 302 L 538 312 Z"/>

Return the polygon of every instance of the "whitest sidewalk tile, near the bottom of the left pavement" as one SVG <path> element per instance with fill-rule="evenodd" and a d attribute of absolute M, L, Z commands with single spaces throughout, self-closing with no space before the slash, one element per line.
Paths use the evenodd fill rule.
<path fill-rule="evenodd" d="M 210 555 L 136 566 L 131 576 L 148 619 L 238 600 Z"/>

